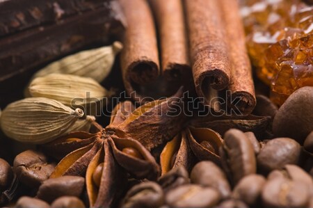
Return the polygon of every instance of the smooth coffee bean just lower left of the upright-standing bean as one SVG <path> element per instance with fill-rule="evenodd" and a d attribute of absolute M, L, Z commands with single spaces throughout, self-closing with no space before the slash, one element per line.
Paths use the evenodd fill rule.
<path fill-rule="evenodd" d="M 228 198 L 231 193 L 230 184 L 223 170 L 211 161 L 202 161 L 193 167 L 191 182 L 216 189 L 222 198 Z"/>

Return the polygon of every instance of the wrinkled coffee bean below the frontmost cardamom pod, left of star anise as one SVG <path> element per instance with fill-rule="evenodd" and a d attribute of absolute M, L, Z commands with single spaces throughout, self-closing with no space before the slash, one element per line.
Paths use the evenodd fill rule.
<path fill-rule="evenodd" d="M 19 180 L 31 188 L 38 188 L 54 171 L 55 164 L 49 163 L 41 152 L 26 150 L 15 157 L 13 170 Z"/>

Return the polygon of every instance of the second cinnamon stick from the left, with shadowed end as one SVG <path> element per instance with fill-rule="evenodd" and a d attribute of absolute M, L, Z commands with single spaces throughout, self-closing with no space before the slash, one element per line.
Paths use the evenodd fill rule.
<path fill-rule="evenodd" d="M 184 10 L 180 0 L 150 0 L 161 45 L 161 70 L 168 81 L 191 78 Z"/>

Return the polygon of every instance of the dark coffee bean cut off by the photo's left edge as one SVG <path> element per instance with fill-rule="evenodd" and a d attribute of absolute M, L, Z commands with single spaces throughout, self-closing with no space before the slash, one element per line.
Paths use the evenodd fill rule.
<path fill-rule="evenodd" d="M 9 163 L 0 158 L 0 193 L 8 189 L 13 180 L 13 170 Z"/>

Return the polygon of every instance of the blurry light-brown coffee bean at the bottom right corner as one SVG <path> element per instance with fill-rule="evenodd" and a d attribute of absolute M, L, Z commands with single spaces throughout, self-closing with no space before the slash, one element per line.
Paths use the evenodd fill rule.
<path fill-rule="evenodd" d="M 275 177 L 264 185 L 262 200 L 264 207 L 307 207 L 310 202 L 310 191 L 303 182 Z"/>

